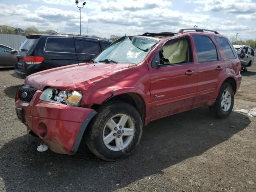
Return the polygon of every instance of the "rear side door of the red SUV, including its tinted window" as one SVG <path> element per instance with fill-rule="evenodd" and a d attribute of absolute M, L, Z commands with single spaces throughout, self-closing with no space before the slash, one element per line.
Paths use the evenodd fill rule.
<path fill-rule="evenodd" d="M 221 60 L 216 45 L 209 36 L 194 35 L 198 62 L 198 95 L 196 102 L 214 99 L 222 75 L 226 75 L 225 63 Z"/>

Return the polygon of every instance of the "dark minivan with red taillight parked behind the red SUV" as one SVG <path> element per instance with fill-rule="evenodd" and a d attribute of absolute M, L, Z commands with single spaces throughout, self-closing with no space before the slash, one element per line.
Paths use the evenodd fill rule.
<path fill-rule="evenodd" d="M 89 62 L 112 42 L 73 34 L 28 35 L 14 65 L 18 78 L 60 66 Z"/>

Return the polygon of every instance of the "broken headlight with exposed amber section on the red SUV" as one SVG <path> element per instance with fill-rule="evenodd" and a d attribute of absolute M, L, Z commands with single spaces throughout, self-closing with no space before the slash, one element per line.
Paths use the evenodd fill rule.
<path fill-rule="evenodd" d="M 40 100 L 78 106 L 82 100 L 82 92 L 47 88 L 41 94 Z"/>

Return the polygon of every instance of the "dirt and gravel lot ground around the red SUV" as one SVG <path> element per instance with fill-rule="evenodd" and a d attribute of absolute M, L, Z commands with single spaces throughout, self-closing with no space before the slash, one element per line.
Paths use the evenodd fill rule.
<path fill-rule="evenodd" d="M 256 63 L 242 72 L 234 109 L 256 107 Z M 36 151 L 14 112 L 23 80 L 0 69 L 0 192 L 256 192 L 256 117 L 210 116 L 207 107 L 144 127 L 136 151 L 104 162 L 87 148 L 75 156 Z"/>

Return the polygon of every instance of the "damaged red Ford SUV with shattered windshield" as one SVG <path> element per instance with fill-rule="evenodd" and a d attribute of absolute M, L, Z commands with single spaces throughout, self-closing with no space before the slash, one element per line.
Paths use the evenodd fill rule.
<path fill-rule="evenodd" d="M 82 139 L 103 160 L 128 156 L 148 122 L 200 106 L 226 118 L 242 76 L 216 31 L 124 36 L 93 62 L 28 76 L 16 92 L 18 118 L 52 151 L 75 154 Z"/>

